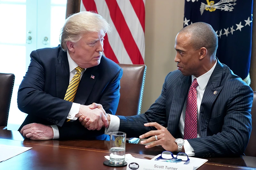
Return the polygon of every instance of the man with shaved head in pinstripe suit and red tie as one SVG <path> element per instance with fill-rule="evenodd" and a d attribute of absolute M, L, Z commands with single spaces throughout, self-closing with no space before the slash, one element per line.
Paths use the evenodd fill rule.
<path fill-rule="evenodd" d="M 145 114 L 107 115 L 106 133 L 148 138 L 142 144 L 161 145 L 188 156 L 243 154 L 252 130 L 252 89 L 217 59 L 218 37 L 212 26 L 198 22 L 177 34 L 178 70 L 170 72 L 163 89 Z M 80 120 L 81 121 L 81 120 Z"/>

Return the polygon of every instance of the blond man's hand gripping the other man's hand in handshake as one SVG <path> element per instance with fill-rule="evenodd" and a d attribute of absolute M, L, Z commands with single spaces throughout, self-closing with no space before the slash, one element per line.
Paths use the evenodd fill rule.
<path fill-rule="evenodd" d="M 108 120 L 105 116 L 105 110 L 102 108 L 104 110 L 103 112 L 99 108 L 91 109 L 89 107 L 90 106 L 81 105 L 78 114 L 76 114 L 76 117 L 81 118 L 82 116 L 84 118 L 83 120 L 85 120 L 84 122 L 87 121 L 86 124 L 84 123 L 84 127 L 86 127 L 89 130 L 100 130 L 104 125 L 106 128 L 108 128 Z M 81 120 L 80 118 L 79 121 Z"/>

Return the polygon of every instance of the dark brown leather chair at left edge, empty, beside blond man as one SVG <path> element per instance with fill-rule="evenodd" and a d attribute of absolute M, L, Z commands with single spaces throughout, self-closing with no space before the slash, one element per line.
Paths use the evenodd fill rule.
<path fill-rule="evenodd" d="M 0 129 L 7 129 L 14 79 L 14 74 L 0 73 Z"/>

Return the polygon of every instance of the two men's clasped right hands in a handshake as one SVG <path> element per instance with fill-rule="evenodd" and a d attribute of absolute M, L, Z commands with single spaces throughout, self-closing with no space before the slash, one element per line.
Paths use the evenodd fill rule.
<path fill-rule="evenodd" d="M 81 105 L 78 114 L 79 122 L 88 130 L 108 128 L 110 117 L 106 114 L 101 104 L 92 103 L 89 106 Z"/>

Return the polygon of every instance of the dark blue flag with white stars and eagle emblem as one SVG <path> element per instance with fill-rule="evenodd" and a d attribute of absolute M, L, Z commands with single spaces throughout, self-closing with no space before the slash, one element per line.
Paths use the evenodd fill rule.
<path fill-rule="evenodd" d="M 253 0 L 185 0 L 184 27 L 212 25 L 219 38 L 216 56 L 250 85 Z"/>

